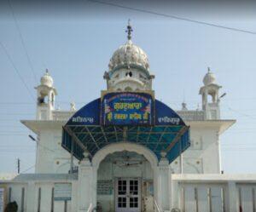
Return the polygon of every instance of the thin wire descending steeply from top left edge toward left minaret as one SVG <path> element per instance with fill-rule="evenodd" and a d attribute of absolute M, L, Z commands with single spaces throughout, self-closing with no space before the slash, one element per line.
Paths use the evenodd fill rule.
<path fill-rule="evenodd" d="M 15 16 L 15 10 L 14 10 L 14 8 L 13 8 L 13 6 L 12 6 L 10 0 L 8 1 L 8 3 L 9 3 L 9 8 L 10 8 L 11 14 L 12 14 L 12 16 L 13 16 L 13 19 L 15 20 L 15 26 L 16 26 L 16 28 L 17 28 L 17 31 L 19 32 L 20 41 L 21 41 L 22 47 L 23 47 L 23 49 L 24 49 L 24 51 L 25 51 L 26 59 L 27 59 L 27 61 L 28 61 L 29 67 L 30 67 L 30 69 L 31 69 L 31 71 L 32 71 L 32 74 L 33 74 L 33 76 L 34 76 L 35 83 L 37 83 L 37 75 L 36 75 L 36 72 L 34 71 L 34 68 L 33 68 L 33 66 L 32 66 L 32 61 L 31 61 L 30 56 L 29 56 L 29 54 L 28 54 L 28 51 L 27 51 L 27 49 L 26 49 L 26 45 L 25 45 L 25 42 L 24 42 L 24 38 L 23 38 L 22 33 L 21 33 L 21 31 L 20 31 L 20 26 L 19 26 L 18 20 L 16 19 L 16 16 Z"/>

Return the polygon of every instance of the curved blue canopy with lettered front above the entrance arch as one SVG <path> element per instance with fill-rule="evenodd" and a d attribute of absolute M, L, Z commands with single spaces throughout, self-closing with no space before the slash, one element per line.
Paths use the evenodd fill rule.
<path fill-rule="evenodd" d="M 91 101 L 63 126 L 61 146 L 81 160 L 84 151 L 92 158 L 104 146 L 127 141 L 148 147 L 159 159 L 165 152 L 171 163 L 190 146 L 189 126 L 170 107 L 143 95 L 116 93 Z"/>

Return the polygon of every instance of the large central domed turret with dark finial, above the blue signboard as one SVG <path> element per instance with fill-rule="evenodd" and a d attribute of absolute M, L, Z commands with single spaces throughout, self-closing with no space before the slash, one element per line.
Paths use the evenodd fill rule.
<path fill-rule="evenodd" d="M 130 22 L 126 32 L 128 32 L 128 41 L 113 53 L 108 64 L 108 72 L 104 73 L 108 89 L 116 91 L 151 90 L 154 75 L 149 72 L 148 55 L 132 43 Z"/>

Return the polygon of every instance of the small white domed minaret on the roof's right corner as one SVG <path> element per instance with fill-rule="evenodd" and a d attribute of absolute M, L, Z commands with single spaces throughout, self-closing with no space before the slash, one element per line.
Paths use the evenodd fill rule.
<path fill-rule="evenodd" d="M 202 110 L 205 112 L 205 119 L 219 119 L 218 90 L 222 86 L 218 85 L 216 77 L 209 67 L 206 76 L 203 78 L 203 83 L 204 86 L 201 87 L 199 94 L 202 96 Z"/>

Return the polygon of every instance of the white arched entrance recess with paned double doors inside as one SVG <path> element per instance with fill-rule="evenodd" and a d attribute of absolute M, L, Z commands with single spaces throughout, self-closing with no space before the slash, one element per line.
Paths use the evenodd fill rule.
<path fill-rule="evenodd" d="M 102 211 L 154 211 L 157 158 L 129 142 L 108 145 L 92 159 L 97 175 L 96 202 Z"/>

